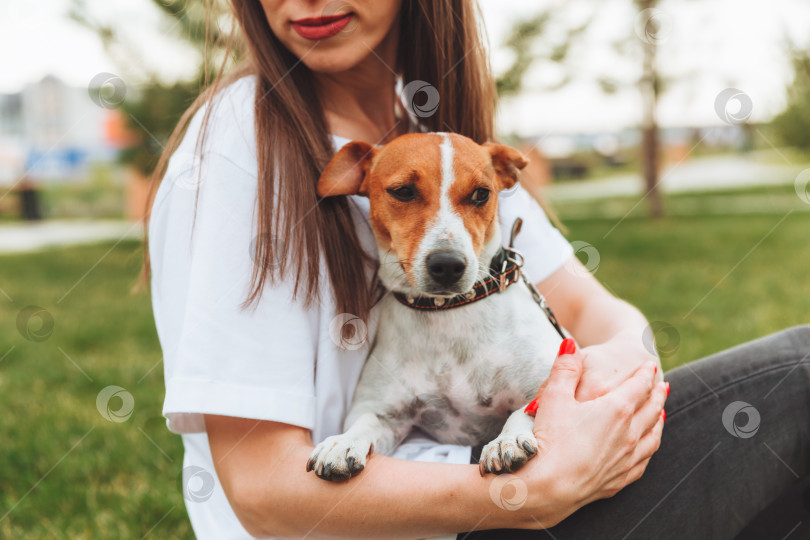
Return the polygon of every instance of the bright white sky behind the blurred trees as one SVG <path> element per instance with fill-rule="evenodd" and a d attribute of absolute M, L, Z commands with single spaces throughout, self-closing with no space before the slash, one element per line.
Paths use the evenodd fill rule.
<path fill-rule="evenodd" d="M 87 0 L 101 20 L 112 21 L 135 45 L 139 58 L 115 62 L 99 38 L 66 17 L 69 0 L 0 0 L 0 93 L 54 74 L 70 85 L 87 86 L 100 72 L 127 80 L 140 65 L 154 67 L 166 79 L 190 76 L 195 52 L 167 37 L 169 28 L 148 0 Z M 564 68 L 538 63 L 527 75 L 526 91 L 503 100 L 501 132 L 524 136 L 551 132 L 613 131 L 639 121 L 639 22 L 630 0 L 480 0 L 489 36 L 493 69 L 502 71 L 511 56 L 502 47 L 515 21 L 553 8 L 552 34 L 588 21 Z M 531 7 L 527 7 L 531 6 Z M 807 0 L 661 0 L 656 20 L 663 31 L 659 63 L 669 82 L 659 118 L 665 126 L 715 125 L 721 120 L 715 100 L 726 88 L 738 88 L 753 104 L 752 120 L 767 120 L 785 104 L 791 70 L 787 38 L 810 47 Z M 611 43 L 625 41 L 620 54 Z M 571 82 L 556 92 L 543 88 L 567 73 Z M 600 77 L 621 89 L 605 94 Z M 731 103 L 730 107 L 736 104 Z M 731 112 L 734 112 L 733 110 Z"/>

